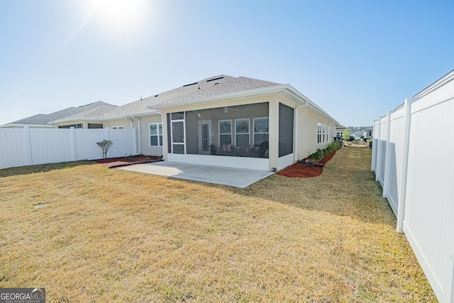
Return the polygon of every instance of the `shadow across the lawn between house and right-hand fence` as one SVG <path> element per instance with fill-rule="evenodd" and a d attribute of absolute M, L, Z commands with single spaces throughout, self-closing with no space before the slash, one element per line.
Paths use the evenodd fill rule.
<path fill-rule="evenodd" d="M 341 148 L 326 163 L 319 177 L 272 175 L 246 189 L 228 190 L 247 197 L 394 227 L 394 213 L 370 171 L 371 157 L 369 148 Z"/>

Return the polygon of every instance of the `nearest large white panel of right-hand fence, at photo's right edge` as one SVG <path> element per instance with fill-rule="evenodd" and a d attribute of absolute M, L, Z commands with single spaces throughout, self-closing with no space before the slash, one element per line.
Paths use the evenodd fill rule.
<path fill-rule="evenodd" d="M 404 232 L 441 302 L 453 291 L 453 103 L 411 113 L 404 213 Z"/>

